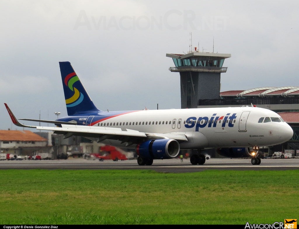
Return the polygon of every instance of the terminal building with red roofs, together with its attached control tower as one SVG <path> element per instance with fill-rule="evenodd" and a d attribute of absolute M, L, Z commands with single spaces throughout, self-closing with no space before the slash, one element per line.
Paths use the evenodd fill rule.
<path fill-rule="evenodd" d="M 204 107 L 252 106 L 273 110 L 293 129 L 293 137 L 286 143 L 265 149 L 289 151 L 299 156 L 299 87 L 259 87 L 248 90 L 220 91 L 220 74 L 227 71 L 224 60 L 231 54 L 189 51 L 187 54 L 166 54 L 173 59 L 171 72 L 179 72 L 181 109 Z M 263 150 L 263 149 L 262 149 Z"/>

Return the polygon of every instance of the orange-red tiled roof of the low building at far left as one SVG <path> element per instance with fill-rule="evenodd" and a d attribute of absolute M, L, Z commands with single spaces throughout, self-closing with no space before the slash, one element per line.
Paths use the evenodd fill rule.
<path fill-rule="evenodd" d="M 0 130 L 1 141 L 34 141 L 44 142 L 47 139 L 40 137 L 38 134 L 34 134 L 31 131 L 11 131 L 11 130 Z"/>

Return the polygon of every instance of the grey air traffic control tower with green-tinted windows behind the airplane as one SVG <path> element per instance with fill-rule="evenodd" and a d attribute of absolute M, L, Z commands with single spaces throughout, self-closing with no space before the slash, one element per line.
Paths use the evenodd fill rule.
<path fill-rule="evenodd" d="M 222 65 L 225 58 L 231 57 L 231 54 L 194 49 L 187 54 L 166 54 L 175 64 L 169 70 L 180 73 L 181 109 L 197 108 L 200 99 L 219 98 L 220 74 L 227 70 Z"/>

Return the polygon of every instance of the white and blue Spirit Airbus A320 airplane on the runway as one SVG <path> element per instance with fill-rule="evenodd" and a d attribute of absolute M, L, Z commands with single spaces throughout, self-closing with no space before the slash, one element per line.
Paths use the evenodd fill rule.
<path fill-rule="evenodd" d="M 20 119 L 55 124 L 21 124 L 6 103 L 12 122 L 20 127 L 54 131 L 64 138 L 81 136 L 106 145 L 135 149 L 140 166 L 154 159 L 171 159 L 180 150 L 195 149 L 190 163 L 202 165 L 209 148 L 278 145 L 293 136 L 292 128 L 275 112 L 254 106 L 167 110 L 99 110 L 89 97 L 71 63 L 59 62 L 68 116 L 54 121 Z M 251 155 L 251 163 L 261 163 Z"/>

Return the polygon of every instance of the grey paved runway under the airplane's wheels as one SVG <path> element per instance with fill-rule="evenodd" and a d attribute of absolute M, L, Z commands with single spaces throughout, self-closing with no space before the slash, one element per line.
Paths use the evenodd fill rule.
<path fill-rule="evenodd" d="M 69 158 L 67 160 L 20 160 L 0 161 L 0 169 L 147 169 L 157 172 L 186 173 L 205 170 L 290 170 L 299 169 L 299 159 L 262 159 L 260 165 L 252 165 L 250 159 L 209 159 L 204 165 L 192 165 L 189 159 L 154 160 L 151 166 L 139 166 L 137 160 L 86 160 Z"/>

